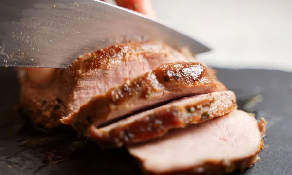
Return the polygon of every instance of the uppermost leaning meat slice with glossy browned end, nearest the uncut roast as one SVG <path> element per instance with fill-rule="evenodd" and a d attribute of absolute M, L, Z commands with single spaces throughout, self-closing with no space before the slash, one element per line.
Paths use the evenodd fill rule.
<path fill-rule="evenodd" d="M 62 123 L 84 133 L 91 125 L 99 126 L 169 100 L 214 92 L 216 88 L 217 84 L 201 63 L 165 63 L 104 94 L 92 97 L 79 111 L 62 119 Z"/>

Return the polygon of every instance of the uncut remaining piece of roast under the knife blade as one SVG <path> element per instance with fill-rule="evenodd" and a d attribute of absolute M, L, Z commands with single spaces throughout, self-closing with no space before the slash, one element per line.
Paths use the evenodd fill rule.
<path fill-rule="evenodd" d="M 37 125 L 58 126 L 61 116 L 79 109 L 95 94 L 122 84 L 163 63 L 194 61 L 187 49 L 175 50 L 161 42 L 133 42 L 110 46 L 79 57 L 70 68 L 56 69 L 45 86 L 34 84 L 18 69 L 20 107 L 30 111 Z"/>

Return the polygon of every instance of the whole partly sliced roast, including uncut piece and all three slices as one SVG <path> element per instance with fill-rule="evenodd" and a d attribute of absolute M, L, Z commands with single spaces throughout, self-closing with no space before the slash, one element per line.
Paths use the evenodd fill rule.
<path fill-rule="evenodd" d="M 237 110 L 216 76 L 185 48 L 130 42 L 80 56 L 42 86 L 19 68 L 20 107 L 45 128 L 125 145 L 147 174 L 221 175 L 259 160 L 266 122 Z"/>

